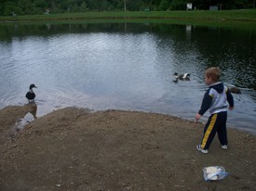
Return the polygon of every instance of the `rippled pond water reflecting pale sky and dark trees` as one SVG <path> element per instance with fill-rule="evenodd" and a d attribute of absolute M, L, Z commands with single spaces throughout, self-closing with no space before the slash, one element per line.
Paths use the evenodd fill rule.
<path fill-rule="evenodd" d="M 27 103 L 37 116 L 69 106 L 167 113 L 193 120 L 204 70 L 240 87 L 228 125 L 256 134 L 256 30 L 152 23 L 1 24 L 0 108 Z M 191 81 L 173 83 L 174 72 Z M 202 121 L 206 121 L 206 113 Z"/>

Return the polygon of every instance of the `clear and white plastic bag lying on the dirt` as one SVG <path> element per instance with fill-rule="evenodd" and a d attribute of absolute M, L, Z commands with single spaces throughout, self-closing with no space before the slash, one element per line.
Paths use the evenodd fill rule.
<path fill-rule="evenodd" d="M 203 169 L 205 181 L 219 181 L 227 176 L 228 172 L 225 172 L 222 166 L 210 166 Z"/>

